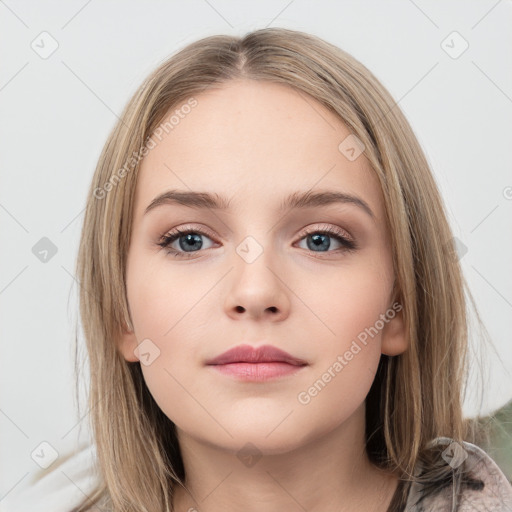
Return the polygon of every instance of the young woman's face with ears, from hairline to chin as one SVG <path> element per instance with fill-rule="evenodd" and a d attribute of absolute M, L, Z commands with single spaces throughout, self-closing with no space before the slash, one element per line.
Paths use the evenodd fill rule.
<path fill-rule="evenodd" d="M 311 97 L 240 80 L 195 100 L 172 109 L 178 122 L 142 162 L 126 275 L 133 331 L 119 348 L 141 361 L 178 433 L 280 453 L 361 411 L 381 354 L 407 348 L 382 192 L 350 131 Z M 154 203 L 169 191 L 228 208 Z M 281 208 L 306 192 L 345 200 Z M 301 365 L 207 364 L 241 344 Z"/>

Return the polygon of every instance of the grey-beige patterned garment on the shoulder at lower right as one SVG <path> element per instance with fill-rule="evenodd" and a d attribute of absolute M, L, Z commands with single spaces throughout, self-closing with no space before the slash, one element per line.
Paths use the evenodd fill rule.
<path fill-rule="evenodd" d="M 443 459 L 454 470 L 464 465 L 471 477 L 481 484 L 465 486 L 459 495 L 458 511 L 477 512 L 512 511 L 512 485 L 496 462 L 480 447 L 464 441 L 453 442 L 448 437 L 438 437 L 432 445 L 444 447 Z M 422 496 L 421 486 L 412 484 L 406 504 L 406 512 L 451 512 L 452 486 Z"/>

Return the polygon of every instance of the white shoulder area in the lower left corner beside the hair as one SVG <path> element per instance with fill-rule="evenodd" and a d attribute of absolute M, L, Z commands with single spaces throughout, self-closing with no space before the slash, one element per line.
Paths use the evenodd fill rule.
<path fill-rule="evenodd" d="M 70 512 L 83 501 L 98 484 L 94 445 L 81 445 L 59 459 L 9 492 L 0 501 L 0 512 Z"/>

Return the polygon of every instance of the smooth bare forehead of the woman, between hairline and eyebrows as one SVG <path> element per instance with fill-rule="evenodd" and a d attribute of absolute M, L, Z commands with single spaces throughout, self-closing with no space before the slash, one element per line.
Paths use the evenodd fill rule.
<path fill-rule="evenodd" d="M 357 194 L 382 215 L 381 191 L 364 154 L 339 145 L 351 132 L 326 107 L 289 86 L 237 80 L 185 99 L 164 117 L 139 170 L 136 215 L 167 189 L 233 198 L 233 209 L 298 190 Z M 193 107 L 184 107 L 194 104 Z M 163 124 L 161 126 L 164 126 Z"/>

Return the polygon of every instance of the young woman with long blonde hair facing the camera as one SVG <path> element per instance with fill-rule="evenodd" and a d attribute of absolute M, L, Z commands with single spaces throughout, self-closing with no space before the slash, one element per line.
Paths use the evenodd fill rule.
<path fill-rule="evenodd" d="M 463 417 L 467 285 L 398 105 L 298 31 L 190 44 L 91 184 L 101 485 L 76 510 L 512 510 Z"/>

